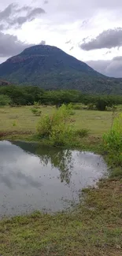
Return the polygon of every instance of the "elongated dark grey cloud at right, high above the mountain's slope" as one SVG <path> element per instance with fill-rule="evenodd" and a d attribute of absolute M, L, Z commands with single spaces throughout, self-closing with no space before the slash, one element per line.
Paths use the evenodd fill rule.
<path fill-rule="evenodd" d="M 103 31 L 95 39 L 80 44 L 82 50 L 97 50 L 102 48 L 111 49 L 122 46 L 122 28 L 114 28 Z"/>

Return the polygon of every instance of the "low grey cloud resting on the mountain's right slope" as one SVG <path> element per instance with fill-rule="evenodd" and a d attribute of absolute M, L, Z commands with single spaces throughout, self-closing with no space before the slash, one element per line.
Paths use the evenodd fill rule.
<path fill-rule="evenodd" d="M 122 56 L 117 56 L 112 60 L 87 61 L 93 69 L 101 72 L 105 76 L 122 77 Z"/>

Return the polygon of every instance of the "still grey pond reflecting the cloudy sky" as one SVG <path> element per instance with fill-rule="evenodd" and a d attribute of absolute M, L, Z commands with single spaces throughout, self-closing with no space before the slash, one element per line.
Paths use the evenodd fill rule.
<path fill-rule="evenodd" d="M 106 170 L 103 158 L 91 152 L 0 141 L 0 217 L 65 210 Z"/>

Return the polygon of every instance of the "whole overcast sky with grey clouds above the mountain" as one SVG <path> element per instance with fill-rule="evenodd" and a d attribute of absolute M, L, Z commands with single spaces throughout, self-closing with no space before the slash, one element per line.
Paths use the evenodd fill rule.
<path fill-rule="evenodd" d="M 98 72 L 122 77 L 122 0 L 1 2 L 0 62 L 46 43 Z"/>

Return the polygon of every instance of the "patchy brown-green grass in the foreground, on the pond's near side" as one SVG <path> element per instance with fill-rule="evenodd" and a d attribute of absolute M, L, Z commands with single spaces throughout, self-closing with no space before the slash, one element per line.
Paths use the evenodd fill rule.
<path fill-rule="evenodd" d="M 122 255 L 122 180 L 87 189 L 83 205 L 71 213 L 13 217 L 0 222 L 4 256 Z"/>

